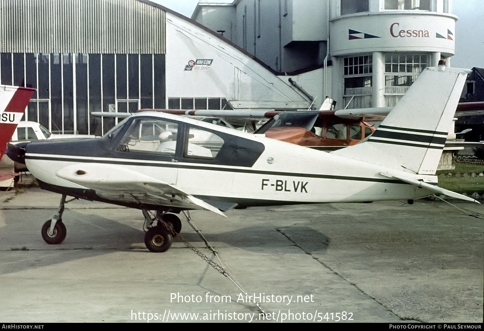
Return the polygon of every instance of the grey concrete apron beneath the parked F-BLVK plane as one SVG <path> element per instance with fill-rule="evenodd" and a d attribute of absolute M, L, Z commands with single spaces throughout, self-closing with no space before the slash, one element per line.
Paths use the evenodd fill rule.
<path fill-rule="evenodd" d="M 59 199 L 0 193 L 2 321 L 483 321 L 483 222 L 469 216 L 482 206 L 459 204 L 467 215 L 435 201 L 192 211 L 230 274 L 262 301 L 259 315 L 183 243 L 144 248 L 138 210 L 73 201 L 67 238 L 46 244 L 40 227 Z M 213 257 L 182 222 L 181 235 Z"/>

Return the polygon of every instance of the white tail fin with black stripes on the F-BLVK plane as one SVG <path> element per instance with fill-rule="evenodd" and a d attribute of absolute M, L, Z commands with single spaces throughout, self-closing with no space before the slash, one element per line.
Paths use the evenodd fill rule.
<path fill-rule="evenodd" d="M 425 68 L 367 141 L 333 154 L 435 174 L 469 72 L 445 66 Z"/>

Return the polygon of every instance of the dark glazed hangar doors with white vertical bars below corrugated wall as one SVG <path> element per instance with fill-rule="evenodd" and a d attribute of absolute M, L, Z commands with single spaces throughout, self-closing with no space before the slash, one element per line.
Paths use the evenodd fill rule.
<path fill-rule="evenodd" d="M 166 107 L 164 54 L 0 53 L 0 84 L 35 87 L 25 119 L 54 133 L 103 135 L 118 120 L 93 111 Z"/>

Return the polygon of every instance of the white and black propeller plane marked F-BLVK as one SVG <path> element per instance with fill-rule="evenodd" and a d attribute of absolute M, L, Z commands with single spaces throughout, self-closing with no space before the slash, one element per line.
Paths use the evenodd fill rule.
<path fill-rule="evenodd" d="M 234 207 L 434 193 L 475 201 L 439 188 L 435 176 L 468 72 L 426 68 L 373 135 L 330 153 L 146 111 L 102 138 L 9 145 L 8 154 L 41 188 L 62 194 L 59 213 L 42 228 L 48 243 L 65 238 L 66 196 L 142 210 L 154 252 L 170 247 L 181 229 L 176 214 L 186 210 L 224 215 Z"/>

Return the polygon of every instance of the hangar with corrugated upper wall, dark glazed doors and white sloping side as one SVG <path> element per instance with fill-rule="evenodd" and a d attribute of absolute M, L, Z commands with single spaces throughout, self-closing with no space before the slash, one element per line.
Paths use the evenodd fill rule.
<path fill-rule="evenodd" d="M 102 135 L 139 108 L 306 109 L 240 47 L 145 0 L 0 0 L 0 84 L 34 87 L 25 120 Z"/>

